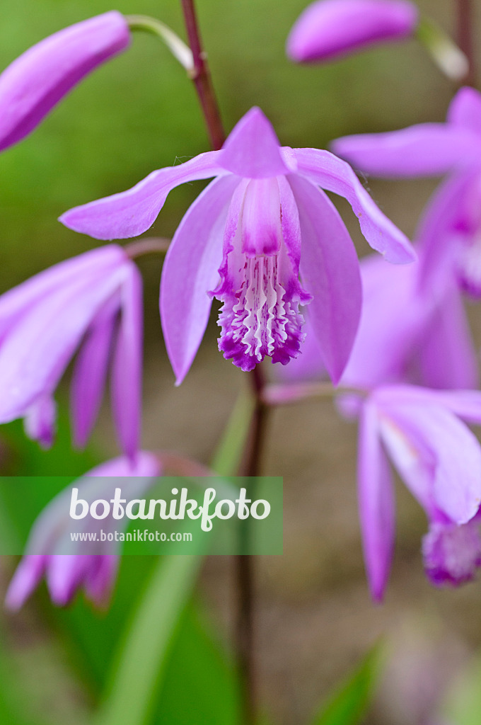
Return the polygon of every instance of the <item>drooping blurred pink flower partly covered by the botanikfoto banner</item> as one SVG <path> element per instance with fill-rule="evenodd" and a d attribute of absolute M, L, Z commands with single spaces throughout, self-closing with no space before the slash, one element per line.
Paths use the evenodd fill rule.
<path fill-rule="evenodd" d="M 135 464 L 125 457 L 109 460 L 86 473 L 75 486 L 78 486 L 78 496 L 89 503 L 97 499 L 109 500 L 116 485 L 136 497 L 143 495 L 152 485 L 152 479 L 160 473 L 156 456 L 140 451 Z M 70 487 L 60 492 L 35 521 L 27 552 L 7 591 L 5 604 L 8 609 L 20 609 L 43 576 L 54 604 L 67 605 L 81 587 L 85 589 L 85 596 L 97 606 L 108 603 L 119 566 L 119 544 L 108 540 L 72 543 L 70 496 Z M 122 526 L 119 521 L 112 521 L 117 530 Z M 90 534 L 94 533 L 92 527 L 95 523 L 99 531 L 107 526 L 104 520 L 95 521 L 91 517 L 85 518 L 82 523 L 84 529 L 88 527 L 87 533 Z"/>

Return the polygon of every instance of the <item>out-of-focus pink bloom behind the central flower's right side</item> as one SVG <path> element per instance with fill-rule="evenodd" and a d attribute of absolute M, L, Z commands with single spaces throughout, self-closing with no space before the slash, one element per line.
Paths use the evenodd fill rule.
<path fill-rule="evenodd" d="M 477 351 L 459 289 L 451 279 L 443 289 L 424 291 L 422 264 L 422 252 L 414 265 L 388 265 L 374 255 L 361 260 L 361 320 L 341 386 L 404 382 L 438 389 L 477 387 Z M 305 332 L 301 355 L 277 373 L 280 379 L 323 376 L 309 310 Z"/>

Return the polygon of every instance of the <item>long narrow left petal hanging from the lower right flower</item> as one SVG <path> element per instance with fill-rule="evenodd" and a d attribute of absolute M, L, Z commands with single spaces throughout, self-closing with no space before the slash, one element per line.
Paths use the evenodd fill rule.
<path fill-rule="evenodd" d="M 372 598 L 380 602 L 388 581 L 394 544 L 394 495 L 382 450 L 375 406 L 367 402 L 359 421 L 359 518 Z"/>

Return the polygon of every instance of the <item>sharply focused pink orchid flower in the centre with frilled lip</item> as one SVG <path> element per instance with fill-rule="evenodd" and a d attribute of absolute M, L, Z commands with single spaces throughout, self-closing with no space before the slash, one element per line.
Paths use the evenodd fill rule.
<path fill-rule="evenodd" d="M 220 151 L 154 171 L 61 221 L 98 239 L 137 236 L 172 188 L 212 176 L 162 270 L 162 326 L 177 384 L 196 355 L 212 297 L 222 302 L 219 348 L 242 370 L 264 357 L 285 364 L 298 355 L 298 305 L 309 302 L 326 368 L 338 381 L 359 322 L 361 282 L 354 244 L 319 186 L 346 197 L 369 244 L 390 262 L 410 262 L 414 252 L 351 167 L 327 151 L 281 148 L 260 109 L 239 121 Z"/>

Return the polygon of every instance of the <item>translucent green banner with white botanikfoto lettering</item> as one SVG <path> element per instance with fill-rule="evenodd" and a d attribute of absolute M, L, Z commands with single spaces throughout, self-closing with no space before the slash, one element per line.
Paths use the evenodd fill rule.
<path fill-rule="evenodd" d="M 282 554 L 283 479 L 0 478 L 0 554 L 199 551 Z"/>

